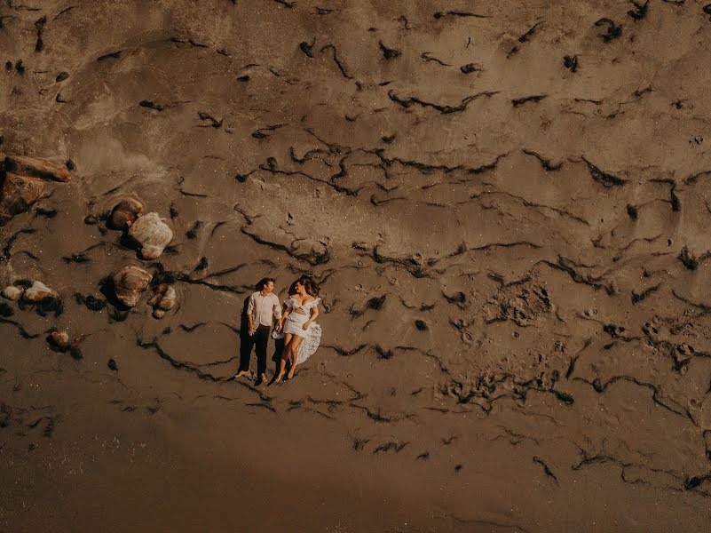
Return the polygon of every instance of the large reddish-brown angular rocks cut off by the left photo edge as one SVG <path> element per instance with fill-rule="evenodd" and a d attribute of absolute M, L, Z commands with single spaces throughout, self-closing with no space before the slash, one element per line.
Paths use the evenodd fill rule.
<path fill-rule="evenodd" d="M 49 192 L 53 182 L 67 183 L 72 176 L 67 167 L 47 159 L 8 155 L 0 172 L 0 226 Z"/>

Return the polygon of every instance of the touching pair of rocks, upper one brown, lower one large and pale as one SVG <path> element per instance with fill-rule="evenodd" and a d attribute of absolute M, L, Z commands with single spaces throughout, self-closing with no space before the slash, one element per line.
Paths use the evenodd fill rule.
<path fill-rule="evenodd" d="M 145 209 L 137 198 L 125 196 L 111 211 L 107 227 L 125 231 L 141 259 L 158 259 L 173 240 L 173 232 L 158 213 L 143 214 Z"/>

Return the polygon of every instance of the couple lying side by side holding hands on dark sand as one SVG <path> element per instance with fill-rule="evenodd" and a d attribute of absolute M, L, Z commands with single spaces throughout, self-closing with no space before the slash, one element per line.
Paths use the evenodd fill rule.
<path fill-rule="evenodd" d="M 271 332 L 277 341 L 275 360 L 278 365 L 269 383 L 272 385 L 280 383 L 285 374 L 287 379 L 294 378 L 296 365 L 316 351 L 320 341 L 320 326 L 314 321 L 319 316 L 320 298 L 318 286 L 310 277 L 299 278 L 291 285 L 283 306 L 273 293 L 272 278 L 258 282 L 256 289 L 248 300 L 247 324 L 242 321 L 242 330 L 246 325 L 247 335 L 241 334 L 240 368 L 234 377 L 241 378 L 249 373 L 249 359 L 256 345 L 257 385 L 265 383 L 266 352 Z M 274 320 L 277 324 L 272 331 Z M 283 347 L 279 350 L 281 342 Z"/>

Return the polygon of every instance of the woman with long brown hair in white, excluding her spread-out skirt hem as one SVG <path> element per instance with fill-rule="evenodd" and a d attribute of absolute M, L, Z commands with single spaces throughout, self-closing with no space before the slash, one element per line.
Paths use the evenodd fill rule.
<path fill-rule="evenodd" d="M 284 349 L 281 351 L 279 374 L 273 382 L 284 378 L 287 360 L 290 363 L 287 378 L 294 377 L 296 359 L 301 342 L 307 335 L 313 321 L 319 316 L 319 290 L 311 278 L 302 278 L 294 283 L 296 294 L 284 300 L 284 310 L 276 330 L 284 333 Z"/>

